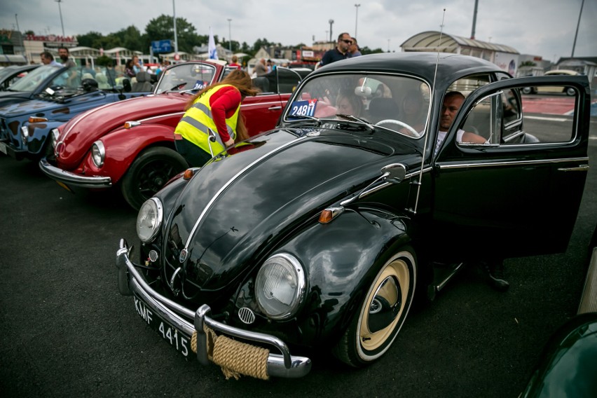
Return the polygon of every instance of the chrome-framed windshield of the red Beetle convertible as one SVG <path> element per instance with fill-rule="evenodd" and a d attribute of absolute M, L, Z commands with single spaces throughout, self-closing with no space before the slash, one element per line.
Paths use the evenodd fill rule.
<path fill-rule="evenodd" d="M 216 67 L 210 64 L 184 63 L 170 67 L 156 88 L 156 94 L 167 91 L 201 90 L 210 85 L 216 75 Z"/>

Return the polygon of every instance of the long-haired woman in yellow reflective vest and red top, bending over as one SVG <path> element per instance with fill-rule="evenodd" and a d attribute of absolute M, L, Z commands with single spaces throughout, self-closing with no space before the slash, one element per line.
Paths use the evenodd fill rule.
<path fill-rule="evenodd" d="M 240 102 L 247 95 L 256 95 L 251 76 L 236 69 L 220 83 L 204 88 L 193 95 L 186 112 L 174 130 L 177 151 L 191 167 L 201 167 L 207 160 L 232 146 L 236 141 L 249 137 L 245 121 L 240 114 Z M 210 143 L 209 131 L 217 132 L 217 142 Z"/>

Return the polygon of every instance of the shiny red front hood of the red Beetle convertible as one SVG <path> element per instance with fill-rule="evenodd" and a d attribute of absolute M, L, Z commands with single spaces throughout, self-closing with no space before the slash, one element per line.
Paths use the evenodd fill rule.
<path fill-rule="evenodd" d="M 109 132 L 123 127 L 126 121 L 138 121 L 184 111 L 189 95 L 170 92 L 150 97 L 137 97 L 91 109 L 60 129 L 58 142 L 61 146 L 60 167 L 69 170 L 76 167 L 93 142 Z"/>

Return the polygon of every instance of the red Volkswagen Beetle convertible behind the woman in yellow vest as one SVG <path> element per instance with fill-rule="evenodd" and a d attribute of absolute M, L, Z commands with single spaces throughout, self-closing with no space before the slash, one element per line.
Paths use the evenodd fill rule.
<path fill-rule="evenodd" d="M 174 148 L 174 128 L 191 95 L 221 81 L 225 62 L 191 61 L 169 67 L 152 95 L 91 109 L 52 132 L 53 156 L 41 170 L 71 187 L 119 186 L 135 208 L 188 165 Z M 308 70 L 276 68 L 254 78 L 261 92 L 241 105 L 249 135 L 275 127 L 292 90 Z"/>

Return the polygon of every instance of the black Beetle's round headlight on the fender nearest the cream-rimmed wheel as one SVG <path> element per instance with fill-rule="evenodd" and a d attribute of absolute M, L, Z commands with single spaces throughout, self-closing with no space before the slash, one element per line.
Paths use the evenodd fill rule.
<path fill-rule="evenodd" d="M 305 294 L 305 271 L 294 256 L 275 254 L 263 263 L 255 281 L 259 308 L 275 320 L 296 313 Z"/>

